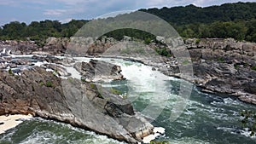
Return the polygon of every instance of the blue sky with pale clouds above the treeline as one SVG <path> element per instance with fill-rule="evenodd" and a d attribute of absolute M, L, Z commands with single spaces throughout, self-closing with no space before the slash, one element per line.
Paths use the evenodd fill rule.
<path fill-rule="evenodd" d="M 186 6 L 199 7 L 256 0 L 0 0 L 0 26 L 10 21 L 91 20 L 115 11 Z"/>

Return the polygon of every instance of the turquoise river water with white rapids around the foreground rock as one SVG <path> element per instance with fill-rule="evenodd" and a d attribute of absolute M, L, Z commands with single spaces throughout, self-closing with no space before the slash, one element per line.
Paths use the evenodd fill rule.
<path fill-rule="evenodd" d="M 256 107 L 228 95 L 208 95 L 193 86 L 182 114 L 174 122 L 169 120 L 177 104 L 179 85 L 182 80 L 169 78 L 142 64 L 115 60 L 122 66 L 127 80 L 102 84 L 127 95 L 127 99 L 139 112 L 152 118 L 154 126 L 166 129 L 166 134 L 156 141 L 170 143 L 219 143 L 254 144 L 241 126 L 239 112 L 244 109 L 256 111 Z M 0 135 L 0 143 L 121 143 L 104 135 L 74 128 L 42 118 L 25 121 L 15 129 Z"/>

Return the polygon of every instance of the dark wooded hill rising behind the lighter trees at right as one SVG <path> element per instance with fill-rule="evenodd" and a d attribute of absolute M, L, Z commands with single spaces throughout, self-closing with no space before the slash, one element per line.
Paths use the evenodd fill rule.
<path fill-rule="evenodd" d="M 209 24 L 215 21 L 253 20 L 256 17 L 256 3 L 225 3 L 206 8 L 190 4 L 185 7 L 140 9 L 140 11 L 158 15 L 177 25 Z"/>

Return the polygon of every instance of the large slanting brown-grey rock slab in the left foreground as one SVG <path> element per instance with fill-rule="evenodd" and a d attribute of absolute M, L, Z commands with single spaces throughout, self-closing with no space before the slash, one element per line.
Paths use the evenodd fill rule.
<path fill-rule="evenodd" d="M 154 126 L 119 95 L 78 79 L 56 78 L 44 68 L 21 76 L 0 72 L 0 89 L 0 115 L 31 113 L 131 143 L 153 132 Z"/>

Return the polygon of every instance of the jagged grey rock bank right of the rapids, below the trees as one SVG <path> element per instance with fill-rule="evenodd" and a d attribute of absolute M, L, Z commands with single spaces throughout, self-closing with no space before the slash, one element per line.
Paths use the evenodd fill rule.
<path fill-rule="evenodd" d="M 253 70 L 256 43 L 234 39 L 188 39 L 184 46 L 189 49 L 193 61 L 193 78 L 180 75 L 178 66 L 173 63 L 160 66 L 159 70 L 189 80 L 205 92 L 235 95 L 241 101 L 256 104 L 256 71 Z"/>

